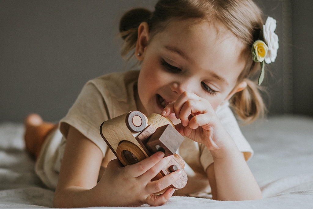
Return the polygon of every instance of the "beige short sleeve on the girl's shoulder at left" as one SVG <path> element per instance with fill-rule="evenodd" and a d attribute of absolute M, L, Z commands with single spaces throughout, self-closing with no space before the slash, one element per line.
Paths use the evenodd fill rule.
<path fill-rule="evenodd" d="M 61 119 L 60 131 L 67 138 L 69 127 L 73 126 L 105 154 L 107 145 L 99 130 L 101 123 L 109 119 L 107 110 L 107 101 L 104 100 L 103 95 L 92 82 L 88 82 L 67 115 Z"/>

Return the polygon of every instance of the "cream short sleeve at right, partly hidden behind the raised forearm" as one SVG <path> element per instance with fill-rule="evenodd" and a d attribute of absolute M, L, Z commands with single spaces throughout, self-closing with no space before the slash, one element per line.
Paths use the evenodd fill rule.
<path fill-rule="evenodd" d="M 240 152 L 244 154 L 245 160 L 248 160 L 253 155 L 253 150 L 244 135 L 241 133 L 237 120 L 228 105 L 229 103 L 226 102 L 223 106 L 218 107 L 216 114 L 226 131 L 233 138 Z M 213 157 L 208 148 L 206 148 L 203 144 L 200 145 L 199 149 L 200 162 L 204 170 L 206 170 L 208 166 L 213 163 Z"/>

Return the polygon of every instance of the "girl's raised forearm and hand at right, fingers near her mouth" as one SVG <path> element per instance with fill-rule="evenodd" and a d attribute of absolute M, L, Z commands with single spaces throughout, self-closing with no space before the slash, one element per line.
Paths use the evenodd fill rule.
<path fill-rule="evenodd" d="M 243 154 L 225 130 L 210 103 L 193 93 L 183 92 L 176 102 L 164 108 L 163 116 L 175 113 L 182 123 L 175 128 L 184 136 L 204 144 L 214 165 L 207 169 L 213 197 L 217 200 L 262 198 Z"/>

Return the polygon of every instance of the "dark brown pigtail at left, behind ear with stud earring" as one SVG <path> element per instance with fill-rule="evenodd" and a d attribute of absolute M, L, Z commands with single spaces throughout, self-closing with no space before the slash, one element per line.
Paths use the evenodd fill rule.
<path fill-rule="evenodd" d="M 120 36 L 123 39 L 121 55 L 126 60 L 130 60 L 134 56 L 133 49 L 136 48 L 138 39 L 138 26 L 142 22 L 147 22 L 152 12 L 144 8 L 135 8 L 126 12 L 120 20 Z M 126 56 L 133 51 L 129 57 Z"/>

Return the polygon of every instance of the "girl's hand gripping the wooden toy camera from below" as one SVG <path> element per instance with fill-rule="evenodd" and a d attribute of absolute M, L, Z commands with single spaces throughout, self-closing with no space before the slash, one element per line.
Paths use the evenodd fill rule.
<path fill-rule="evenodd" d="M 162 191 L 179 179 L 181 170 L 172 172 L 159 180 L 151 181 L 168 163 L 163 152 L 157 152 L 136 164 L 122 167 L 115 159 L 109 162 L 104 175 L 95 186 L 99 198 L 105 199 L 106 206 L 140 206 L 149 204 L 159 206 L 167 202 L 175 189 L 168 188 L 161 195 L 153 195 Z"/>

